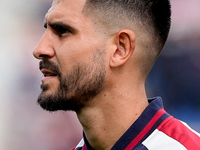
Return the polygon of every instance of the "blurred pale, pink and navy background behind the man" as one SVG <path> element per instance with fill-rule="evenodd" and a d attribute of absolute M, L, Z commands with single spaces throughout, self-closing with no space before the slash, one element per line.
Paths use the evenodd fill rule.
<path fill-rule="evenodd" d="M 36 103 L 42 74 L 32 51 L 51 0 L 0 0 L 0 150 L 68 150 L 82 137 L 73 112 Z M 147 79 L 148 97 L 200 132 L 200 1 L 171 0 L 168 42 Z"/>

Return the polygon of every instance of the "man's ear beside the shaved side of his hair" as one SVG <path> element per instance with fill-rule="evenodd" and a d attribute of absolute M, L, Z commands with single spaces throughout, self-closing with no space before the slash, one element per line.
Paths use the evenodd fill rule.
<path fill-rule="evenodd" d="M 115 48 L 110 56 L 110 67 L 119 67 L 126 63 L 135 49 L 135 34 L 128 29 L 114 35 Z"/>

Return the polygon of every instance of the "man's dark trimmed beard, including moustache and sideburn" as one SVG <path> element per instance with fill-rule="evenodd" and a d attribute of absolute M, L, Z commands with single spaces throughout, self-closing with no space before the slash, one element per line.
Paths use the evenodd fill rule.
<path fill-rule="evenodd" d="M 99 54 L 99 55 L 98 55 Z M 59 79 L 58 88 L 50 94 L 48 84 L 42 83 L 42 92 L 38 97 L 38 104 L 45 110 L 72 110 L 79 111 L 86 106 L 102 90 L 105 81 L 105 61 L 103 52 L 98 51 L 88 64 L 77 64 L 72 70 L 63 75 L 60 68 L 54 62 L 44 59 L 40 62 L 40 68 L 54 71 Z"/>

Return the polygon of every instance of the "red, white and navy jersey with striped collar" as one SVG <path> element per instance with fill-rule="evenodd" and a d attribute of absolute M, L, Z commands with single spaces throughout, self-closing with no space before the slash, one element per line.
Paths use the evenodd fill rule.
<path fill-rule="evenodd" d="M 83 135 L 73 150 L 93 149 Z M 111 150 L 200 150 L 200 134 L 170 116 L 156 97 Z"/>

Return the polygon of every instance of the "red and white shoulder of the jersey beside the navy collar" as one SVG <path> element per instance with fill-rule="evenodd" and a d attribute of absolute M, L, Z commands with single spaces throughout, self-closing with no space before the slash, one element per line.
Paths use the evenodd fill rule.
<path fill-rule="evenodd" d="M 194 150 L 200 149 L 200 134 L 186 123 L 170 119 L 161 124 L 144 142 L 148 149 Z"/>

